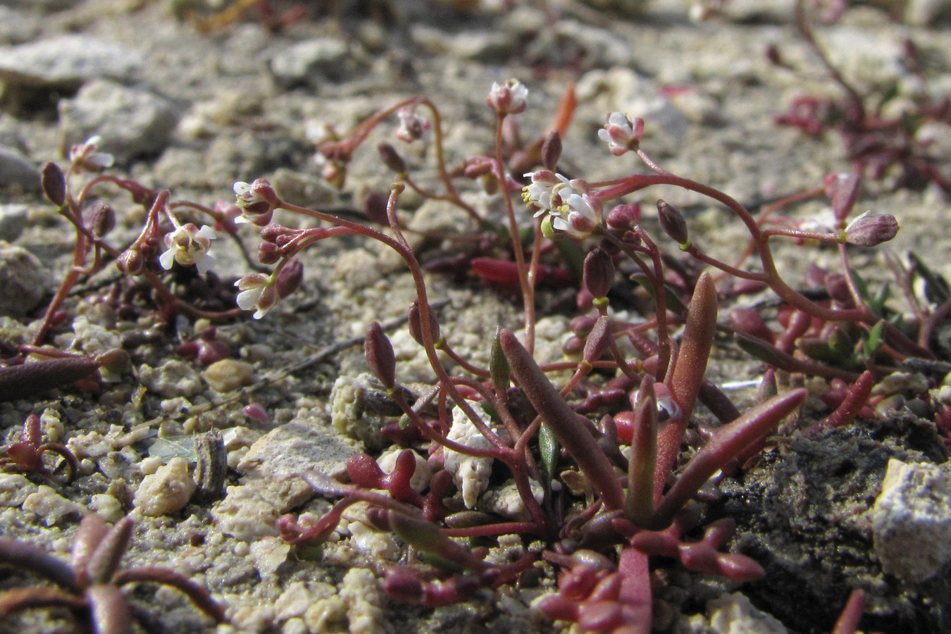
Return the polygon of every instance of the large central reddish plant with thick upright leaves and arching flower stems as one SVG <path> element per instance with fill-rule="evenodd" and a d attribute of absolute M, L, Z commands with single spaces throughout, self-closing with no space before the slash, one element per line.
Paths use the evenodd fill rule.
<path fill-rule="evenodd" d="M 524 335 L 500 329 L 489 367 L 467 362 L 441 335 L 422 267 L 397 217 L 400 194 L 410 186 L 425 197 L 468 209 L 483 224 L 458 196 L 452 181 L 456 170 L 444 163 L 440 119 L 431 102 L 407 100 L 381 110 L 349 134 L 320 144 L 325 177 L 341 183 L 359 144 L 385 117 L 398 114 L 398 138 L 403 141 L 419 141 L 432 131 L 438 178 L 444 187 L 441 193 L 418 185 L 397 150 L 380 145 L 383 162 L 398 173 L 385 208 L 391 233 L 285 202 L 262 179 L 236 183 L 244 220 L 262 227 L 259 257 L 263 263 L 276 264 L 270 276 L 253 274 L 239 282 L 243 308 L 255 310 L 255 317 L 272 308 L 280 296 L 277 272 L 302 249 L 343 235 L 378 240 L 405 260 L 415 280 L 417 300 L 409 313 L 410 333 L 437 377 L 428 392 L 410 402 L 398 382 L 393 348 L 378 324 L 372 323 L 365 339 L 367 362 L 403 412 L 401 429 L 390 429 L 390 435 L 405 449 L 389 473 L 372 456 L 353 456 L 347 463 L 349 484 L 309 474 L 315 490 L 340 500 L 318 521 L 299 522 L 288 515 L 281 518 L 279 528 L 285 539 L 300 548 L 318 546 L 331 538 L 346 509 L 365 503 L 370 507 L 369 524 L 396 533 L 433 565 L 428 571 L 390 567 L 384 587 L 394 598 L 424 605 L 453 603 L 485 588 L 519 583 L 530 568 L 546 562 L 561 573 L 558 593 L 537 604 L 541 612 L 592 631 L 648 632 L 653 618 L 651 556 L 677 559 L 689 569 L 737 582 L 764 574 L 748 557 L 720 551 L 732 534 L 728 519 L 706 527 L 700 541 L 685 539 L 699 522 L 691 498 L 714 473 L 758 451 L 764 437 L 797 410 L 805 390 L 764 398 L 746 413 L 738 412 L 704 377 L 718 328 L 713 275 L 703 273 L 691 280 L 688 297 L 676 297 L 666 283 L 661 247 L 641 224 L 638 209 L 620 204 L 605 214 L 605 204 L 655 185 L 684 187 L 707 196 L 746 225 L 751 240 L 747 256 L 755 254 L 759 267 L 751 269 L 742 261 L 728 263 L 708 255 L 691 238 L 680 212 L 658 201 L 660 226 L 682 251 L 723 277 L 771 288 L 792 309 L 810 318 L 853 322 L 869 331 L 879 328 L 883 340 L 901 347 L 913 342 L 898 329 L 880 326 L 880 318 L 864 305 L 863 298 L 857 296 L 852 306 L 841 308 L 794 290 L 779 275 L 770 246 L 776 237 L 809 238 L 838 244 L 844 254 L 846 244 L 867 246 L 890 240 L 897 222 L 890 216 L 872 215 L 849 222 L 856 192 L 852 185 L 857 187 L 857 182 L 836 177 L 827 183 L 837 214 L 834 231 L 765 227 L 723 192 L 675 176 L 654 163 L 640 147 L 644 122 L 622 113 L 611 114 L 601 136 L 611 154 L 633 153 L 652 174 L 600 183 L 568 179 L 556 171 L 560 143 L 553 135 L 540 152 L 545 168 L 525 174 L 528 184 L 523 186 L 508 173 L 504 146 L 511 118 L 526 108 L 526 93 L 515 81 L 493 86 L 487 103 L 496 114 L 494 156 L 467 162 L 477 163 L 481 175 L 490 174 L 503 192 L 500 204 L 526 309 Z M 423 118 L 420 109 L 431 118 Z M 472 176 L 464 168 L 458 173 Z M 519 192 L 534 214 L 528 240 L 520 236 L 529 214 L 516 211 L 514 194 Z M 302 214 L 327 226 L 291 229 L 274 221 L 279 211 Z M 576 358 L 566 362 L 539 363 L 534 356 L 534 292 L 546 240 L 598 241 L 583 266 L 583 283 L 594 314 L 575 321 L 574 334 L 583 345 L 577 347 Z M 529 244 L 528 248 L 523 244 Z M 643 322 L 611 316 L 609 292 L 622 262 L 633 265 L 656 298 L 653 315 Z M 674 327 L 681 324 L 683 335 L 672 336 Z M 623 352 L 627 342 L 637 355 Z M 453 358 L 463 374 L 450 374 L 440 352 Z M 573 371 L 573 376 L 558 387 L 550 378 L 555 371 Z M 613 377 L 599 384 L 592 373 Z M 574 394 L 584 398 L 578 400 Z M 724 424 L 678 469 L 677 456 L 698 400 Z M 600 417 L 595 422 L 592 416 Z M 434 471 L 428 484 L 416 487 L 412 484 L 417 471 L 414 449 L 429 451 Z M 478 504 L 488 486 L 487 473 L 494 466 L 504 467 L 516 492 L 518 503 L 507 509 L 486 510 Z M 481 480 L 474 482 L 473 473 L 482 473 L 476 477 Z M 455 491 L 460 495 L 454 495 Z M 514 561 L 497 563 L 486 558 L 481 548 L 464 548 L 456 542 L 510 534 L 541 540 L 545 546 L 522 550 Z"/>

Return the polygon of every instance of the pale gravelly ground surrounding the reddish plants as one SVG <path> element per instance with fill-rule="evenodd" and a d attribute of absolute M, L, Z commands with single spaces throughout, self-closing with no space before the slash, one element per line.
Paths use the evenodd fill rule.
<path fill-rule="evenodd" d="M 346 187 L 332 190 L 320 181 L 308 130 L 320 124 L 346 130 L 381 106 L 423 94 L 440 108 L 448 159 L 456 163 L 491 151 L 493 114 L 485 106 L 486 90 L 494 81 L 517 77 L 530 89 L 529 109 L 519 115 L 526 137 L 543 131 L 566 86 L 576 84 L 578 106 L 564 140 L 561 165 L 590 181 L 616 178 L 631 169 L 627 157 L 612 158 L 597 142 L 597 128 L 603 125 L 605 114 L 615 109 L 646 118 L 644 146 L 666 169 L 714 185 L 751 205 L 818 186 L 825 174 L 847 168 L 833 136 L 806 139 L 796 130 L 773 123 L 793 96 L 830 90 L 818 76 L 804 79 L 769 67 L 763 55 L 768 44 L 777 44 L 787 59 L 809 63 L 809 53 L 796 39 L 788 17 L 791 2 L 762 3 L 764 15 L 744 13 L 749 3 L 737 2 L 732 18 L 703 24 L 691 23 L 686 3 L 673 0 L 648 3 L 646 12 L 636 18 L 556 1 L 549 3 L 547 11 L 534 2 L 518 3 L 514 10 L 454 10 L 447 3 L 421 0 L 340 2 L 334 15 L 328 14 L 333 12 L 329 6 L 315 2 L 304 20 L 279 34 L 263 29 L 254 20 L 253 9 L 234 24 L 204 33 L 194 21 L 176 19 L 172 4 L 44 0 L 0 6 L 0 45 L 43 43 L 65 33 L 81 34 L 90 38 L 87 43 L 120 47 L 121 57 L 133 65 L 108 80 L 84 79 L 78 95 L 79 84 L 50 86 L 41 81 L 36 86 L 37 82 L 5 75 L 8 86 L 0 109 L 0 146 L 17 150 L 32 165 L 65 164 L 64 147 L 98 133 L 104 137 L 104 149 L 120 159 L 112 173 L 168 188 L 176 200 L 209 205 L 230 200 L 232 183 L 267 177 L 295 202 L 354 208 L 366 192 L 385 191 L 392 175 L 380 169 L 372 146 L 367 146 L 350 166 Z M 286 8 L 280 3 L 278 7 Z M 842 25 L 820 34 L 845 71 L 873 90 L 883 90 L 892 81 L 902 89 L 914 89 L 914 78 L 900 62 L 901 39 L 912 36 L 926 51 L 925 70 L 934 92 L 951 92 L 951 32 L 946 23 L 912 28 L 887 20 L 879 10 L 855 7 L 848 10 Z M 300 48 L 301 43 L 313 41 L 321 43 L 318 52 Z M 296 69 L 305 56 L 310 56 L 311 66 Z M 122 99 L 133 97 L 145 99 L 145 105 L 134 102 L 140 105 L 131 110 L 120 106 Z M 97 112 L 107 116 L 97 119 Z M 126 139 L 129 129 L 145 125 L 143 120 L 155 126 Z M 395 128 L 395 122 L 383 125 L 373 137 L 374 144 L 392 135 Z M 938 144 L 946 157 L 948 137 L 939 138 Z M 424 164 L 426 159 L 411 153 L 414 164 Z M 7 176 L 0 174 L 0 183 L 7 183 Z M 29 177 L 23 177 L 3 190 L 0 209 L 8 211 L 8 216 L 0 216 L 6 223 L 0 227 L 12 226 L 4 234 L 7 239 L 42 259 L 46 283 L 52 288 L 68 268 L 72 238 L 65 222 L 33 186 Z M 111 196 L 105 190 L 104 195 Z M 650 206 L 660 195 L 648 190 L 642 200 Z M 710 208 L 708 202 L 673 190 L 662 195 L 688 212 L 695 240 L 709 244 L 713 253 L 727 256 L 743 240 L 739 223 L 729 221 L 725 212 Z M 499 213 L 497 198 L 487 198 L 475 189 L 467 196 L 484 213 Z M 137 224 L 143 218 L 141 210 L 133 210 L 122 197 L 109 200 L 120 212 L 116 243 L 132 240 L 141 226 Z M 403 204 L 407 211 L 416 210 L 411 224 L 417 222 L 420 227 L 452 228 L 460 221 L 445 206 L 410 195 Z M 25 222 L 6 220 L 24 206 Z M 893 193 L 887 183 L 870 183 L 860 207 L 898 217 L 902 232 L 893 243 L 896 253 L 925 253 L 936 269 L 951 273 L 941 255 L 949 252 L 947 237 L 936 224 L 948 209 L 939 189 Z M 809 202 L 795 213 L 824 212 L 823 203 Z M 250 240 L 253 235 L 248 232 L 246 237 L 248 246 L 256 248 Z M 425 246 L 434 251 L 440 248 Z M 216 251 L 220 260 L 216 270 L 223 278 L 247 272 L 236 250 L 218 247 Z M 808 263 L 834 265 L 835 259 L 831 250 L 791 249 L 783 252 L 781 266 L 787 279 L 796 280 Z M 874 267 L 878 260 L 873 255 L 859 254 L 855 261 L 872 279 L 887 277 L 882 267 Z M 411 280 L 398 261 L 361 240 L 321 244 L 306 254 L 304 264 L 300 292 L 260 321 L 241 320 L 220 329 L 233 357 L 246 364 L 232 364 L 228 374 L 250 373 L 240 383 L 261 380 L 336 341 L 360 335 L 371 319 L 399 317 L 413 297 Z M 94 288 L 97 281 L 111 275 L 107 267 L 83 286 Z M 485 342 L 496 324 L 518 323 L 517 306 L 495 290 L 440 277 L 431 279 L 431 287 L 433 297 L 449 300 L 440 312 L 444 333 L 476 361 L 486 359 Z M 127 335 L 148 331 L 153 325 L 147 319 L 117 319 L 97 297 L 88 291 L 70 299 L 70 315 L 83 315 L 91 325 L 85 330 L 61 329 L 56 336 L 59 345 L 101 352 L 121 343 L 123 329 Z M 546 297 L 552 306 L 571 301 L 570 296 L 560 297 L 553 291 Z M 566 321 L 555 316 L 543 329 L 543 339 L 551 333 L 552 358 L 558 355 Z M 29 332 L 29 327 L 29 317 L 3 319 L 0 335 L 22 339 L 24 328 Z M 202 324 L 178 324 L 184 333 L 201 328 Z M 427 370 L 414 357 L 407 334 L 398 332 L 394 340 L 401 355 L 400 377 L 425 381 Z M 357 441 L 340 436 L 330 425 L 335 379 L 364 371 L 359 347 L 322 358 L 255 393 L 253 399 L 269 416 L 269 422 L 261 423 L 242 412 L 251 396 L 196 417 L 195 408 L 225 397 L 209 387 L 219 385 L 214 376 L 175 354 L 175 342 L 174 336 L 159 336 L 129 348 L 135 372 L 108 383 L 102 394 L 65 390 L 0 404 L 7 438 L 28 413 L 46 412 L 47 429 L 58 430 L 62 441 L 86 458 L 81 477 L 68 486 L 39 476 L 0 476 L 0 529 L 5 536 L 65 553 L 79 518 L 88 510 L 110 521 L 132 510 L 136 531 L 126 566 L 159 565 L 189 574 L 227 605 L 233 627 L 239 631 L 550 628 L 525 607 L 531 592 L 436 611 L 388 605 L 372 577 L 359 571 L 381 566 L 394 548 L 385 539 L 362 551 L 344 541 L 327 548 L 322 561 L 306 562 L 289 556 L 288 548 L 275 537 L 277 515 L 300 507 L 309 497 L 306 486 L 293 477 L 295 472 L 314 460 L 322 461 L 323 471 L 339 471 L 342 460 L 359 449 Z M 723 356 L 709 371 L 716 380 L 755 378 L 761 372 L 756 363 L 731 361 L 729 357 L 736 355 L 729 353 Z M 898 439 L 887 455 L 940 460 L 941 451 L 928 444 L 934 443 L 933 437 L 928 442 L 909 440 L 914 433 L 904 425 L 896 424 L 900 432 L 893 435 Z M 191 502 L 160 517 L 146 517 L 141 508 L 133 510 L 136 490 L 147 473 L 176 454 L 190 457 L 187 447 L 156 444 L 154 432 L 174 439 L 211 427 L 222 431 L 229 451 L 228 496 L 214 504 Z M 265 434 L 266 439 L 255 444 Z M 846 446 L 849 441 L 829 442 Z M 786 465 L 789 455 L 773 455 L 770 461 Z M 815 478 L 833 477 L 821 470 L 816 473 Z M 865 488 L 857 497 L 865 506 L 853 509 L 855 513 L 867 511 L 882 475 L 883 463 L 867 482 L 863 480 Z M 730 499 L 742 498 L 747 485 L 750 491 L 763 490 L 767 485 L 757 479 L 761 477 L 751 476 L 747 483 L 736 485 L 741 492 L 734 490 Z M 822 487 L 817 491 L 809 494 L 825 495 Z M 320 512 L 323 503 L 309 504 L 309 510 Z M 729 504 L 726 508 L 738 513 Z M 801 575 L 790 572 L 792 564 L 786 566 L 786 560 L 780 561 L 776 554 L 782 548 L 755 536 L 757 529 L 782 534 L 779 528 L 753 524 L 750 521 L 745 527 L 750 532 L 741 542 L 745 539 L 743 543 L 775 563 L 776 570 L 782 568 L 783 575 L 791 575 L 777 571 L 776 579 L 789 586 L 821 582 L 831 589 L 824 596 L 806 593 L 801 597 L 790 590 L 783 597 L 775 584 L 767 584 L 751 588 L 750 596 L 795 631 L 827 631 L 851 586 L 850 573 L 833 566 L 825 576 L 820 571 L 815 573 L 819 577 L 812 577 L 813 571 L 802 562 L 795 565 L 802 568 Z M 843 534 L 840 528 L 833 522 L 814 530 L 835 543 Z M 874 554 L 868 552 L 867 528 L 865 533 L 861 527 L 856 530 L 858 542 L 849 543 L 848 548 L 855 551 L 855 560 L 862 560 L 856 570 L 862 569 L 853 571 L 853 576 L 881 577 Z M 799 537 L 793 532 L 788 539 Z M 815 552 L 824 553 L 825 558 L 826 547 L 817 546 Z M 715 609 L 704 602 L 716 597 L 721 586 L 678 574 L 671 575 L 672 589 L 663 597 L 665 601 L 686 614 Z M 3 570 L 0 575 L 4 575 L 0 576 L 4 586 L 24 583 L 16 572 Z M 873 602 L 875 609 L 891 615 L 883 617 L 884 625 L 879 626 L 915 624 L 920 631 L 947 626 L 948 603 L 941 598 L 947 588 L 942 582 L 929 583 L 909 587 L 885 580 L 875 586 L 890 597 Z M 157 631 L 163 627 L 165 631 L 212 629 L 172 591 L 143 586 L 132 595 L 146 606 Z M 904 603 L 895 607 L 894 595 L 902 595 Z M 811 612 L 809 605 L 815 606 Z M 808 613 L 805 618 L 804 612 Z M 67 623 L 36 613 L 0 623 L 0 631 L 67 631 Z M 703 618 L 691 625 L 680 620 L 676 626 L 726 631 Z M 758 627 L 766 631 L 767 625 Z"/>

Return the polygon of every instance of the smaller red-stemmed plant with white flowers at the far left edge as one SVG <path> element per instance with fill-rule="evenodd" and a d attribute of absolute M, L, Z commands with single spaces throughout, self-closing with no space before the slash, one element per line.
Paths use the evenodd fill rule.
<path fill-rule="evenodd" d="M 135 318 L 143 311 L 155 310 L 155 321 L 161 325 L 177 315 L 220 321 L 242 314 L 234 307 L 235 289 L 210 271 L 213 240 L 223 233 L 237 241 L 234 220 L 239 215 L 238 207 L 224 202 L 212 208 L 175 201 L 167 190 L 112 176 L 104 171 L 111 166 L 112 157 L 99 151 L 99 143 L 93 137 L 74 145 L 66 171 L 56 163 L 47 163 L 41 170 L 47 198 L 72 226 L 72 260 L 31 339 L 0 341 L 0 400 L 38 394 L 84 379 L 94 384 L 100 368 L 120 372 L 127 366 L 127 355 L 122 350 L 92 357 L 47 345 L 55 329 L 68 324 L 67 300 L 77 283 L 102 272 L 110 263 L 114 262 L 125 275 L 108 285 L 103 301 L 115 308 L 119 318 Z M 131 203 L 146 213 L 139 235 L 131 242 L 120 242 L 115 237 L 117 212 L 101 197 L 109 187 L 125 191 Z M 199 227 L 197 219 L 201 217 L 208 219 L 209 225 Z M 294 265 L 288 268 L 300 273 Z M 285 274 L 281 288 L 289 292 L 293 283 L 293 275 Z"/>

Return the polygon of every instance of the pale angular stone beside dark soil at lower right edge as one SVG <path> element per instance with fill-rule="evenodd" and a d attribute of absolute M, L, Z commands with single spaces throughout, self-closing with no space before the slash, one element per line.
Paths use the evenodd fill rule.
<path fill-rule="evenodd" d="M 951 560 L 951 473 L 889 460 L 871 519 L 883 571 L 912 583 L 930 578 Z"/>

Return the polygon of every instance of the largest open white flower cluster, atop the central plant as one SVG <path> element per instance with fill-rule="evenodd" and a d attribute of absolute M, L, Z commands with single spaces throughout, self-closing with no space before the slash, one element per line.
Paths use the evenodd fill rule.
<path fill-rule="evenodd" d="M 592 235 L 601 224 L 604 210 L 600 199 L 581 179 L 568 180 L 548 169 L 525 174 L 532 183 L 522 188 L 522 200 L 538 208 L 535 217 L 547 214 L 542 231 L 549 237 L 554 231 L 564 231 L 572 238 L 583 239 Z"/>

